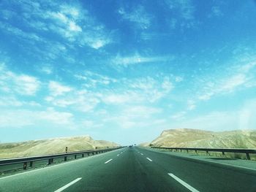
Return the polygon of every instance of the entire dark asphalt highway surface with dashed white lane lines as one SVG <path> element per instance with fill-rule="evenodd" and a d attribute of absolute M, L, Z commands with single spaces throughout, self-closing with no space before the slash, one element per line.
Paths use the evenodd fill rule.
<path fill-rule="evenodd" d="M 126 147 L 1 177 L 0 191 L 256 191 L 256 170 Z"/>

